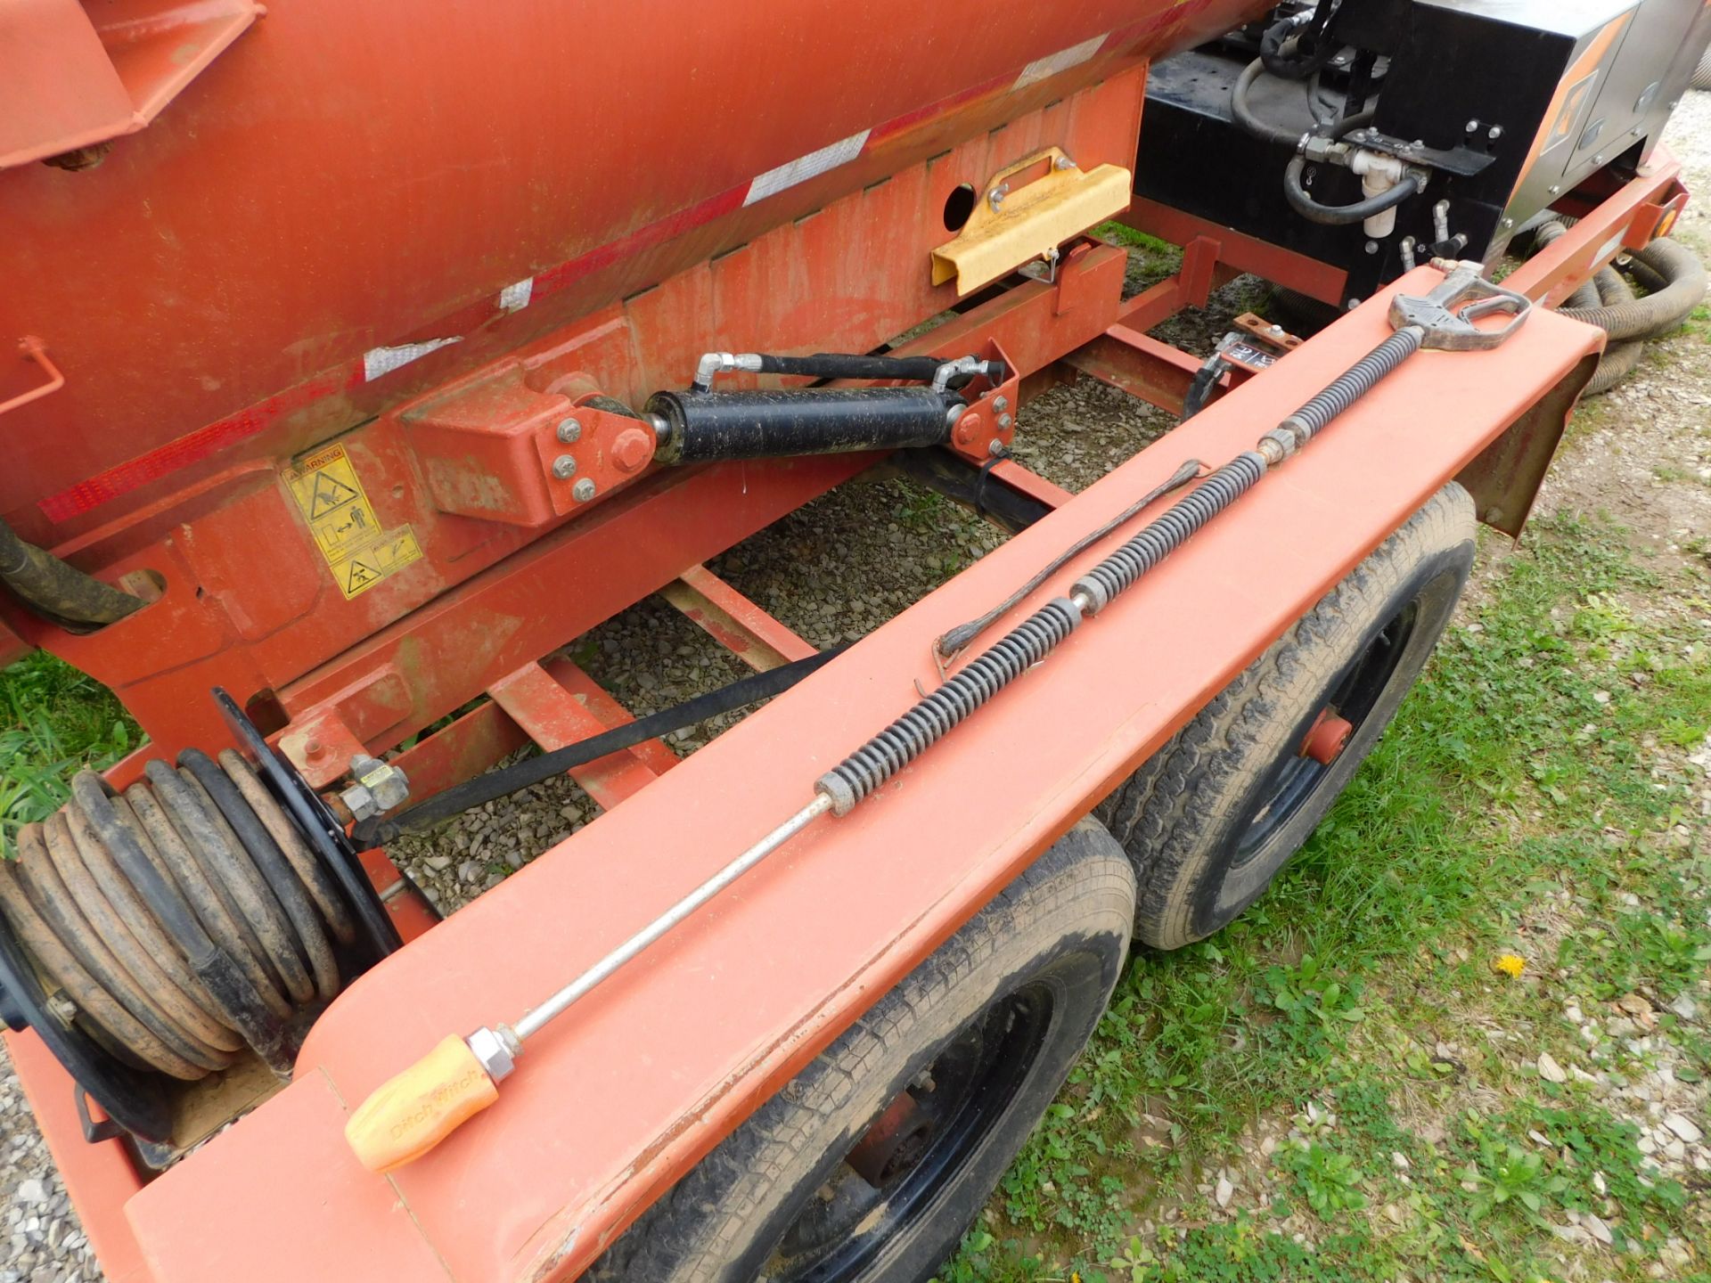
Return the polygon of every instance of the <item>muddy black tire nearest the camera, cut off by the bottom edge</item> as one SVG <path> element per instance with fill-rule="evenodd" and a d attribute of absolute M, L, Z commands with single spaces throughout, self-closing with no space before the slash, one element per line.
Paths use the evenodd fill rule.
<path fill-rule="evenodd" d="M 965 1162 L 891 1233 L 862 1221 L 847 1242 L 867 1259 L 833 1274 L 838 1283 L 924 1283 L 956 1249 L 1093 1033 L 1122 970 L 1133 915 L 1128 857 L 1083 819 L 648 1208 L 587 1278 L 763 1278 L 797 1213 L 842 1172 L 885 1107 L 1004 996 L 1049 992 L 1040 1049 L 1008 1103 L 974 1132 Z"/>

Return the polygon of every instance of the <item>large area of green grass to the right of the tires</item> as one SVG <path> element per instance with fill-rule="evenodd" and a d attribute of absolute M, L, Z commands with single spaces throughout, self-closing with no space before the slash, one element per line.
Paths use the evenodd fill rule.
<path fill-rule="evenodd" d="M 1637 1244 L 1595 1278 L 1641 1280 L 1668 1237 L 1702 1239 L 1704 1191 L 1648 1180 L 1631 1124 L 1533 1069 L 1584 1050 L 1566 999 L 1661 1008 L 1711 961 L 1711 871 L 1680 842 L 1702 821 L 1648 748 L 1706 737 L 1711 653 L 1632 609 L 1672 592 L 1702 612 L 1704 576 L 1660 573 L 1607 523 L 1535 523 L 1273 891 L 1210 941 L 1133 960 L 943 1283 L 1519 1283 L 1557 1276 L 1569 1211 Z M 1499 953 L 1526 979 L 1497 975 Z M 1514 1050 L 1468 1035 L 1475 1018 Z M 1711 1071 L 1704 1030 L 1663 1020 L 1685 1073 Z M 1198 1191 L 1261 1119 L 1292 1131 L 1275 1199 L 1220 1218 Z"/>

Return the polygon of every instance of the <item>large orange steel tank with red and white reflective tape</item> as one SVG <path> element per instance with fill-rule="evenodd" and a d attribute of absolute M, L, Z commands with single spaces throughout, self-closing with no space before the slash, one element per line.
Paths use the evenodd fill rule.
<path fill-rule="evenodd" d="M 1263 9 L 1052 0 L 992 21 L 986 0 L 926 14 L 912 0 L 272 5 L 99 166 L 0 173 L 7 315 L 67 373 L 7 423 L 0 511 L 56 498 L 48 517 L 68 522 L 157 474 L 92 494 L 80 482 L 202 424 L 233 446 L 275 400 L 298 414 L 296 445 L 325 440 L 1119 60 Z M 965 106 L 992 113 L 946 128 Z M 416 344 L 445 347 L 411 361 Z M 175 462 L 188 460 L 159 465 Z"/>

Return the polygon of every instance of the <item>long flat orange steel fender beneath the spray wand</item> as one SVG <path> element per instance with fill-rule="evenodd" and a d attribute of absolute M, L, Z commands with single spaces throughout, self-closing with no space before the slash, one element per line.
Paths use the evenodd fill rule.
<path fill-rule="evenodd" d="M 1405 284 L 1420 294 L 1437 281 L 1422 269 Z M 1598 332 L 1536 313 L 1499 351 L 1413 358 L 854 814 L 816 825 L 532 1040 L 500 1102 L 390 1185 L 329 1146 L 335 1119 L 305 1114 L 296 1134 L 270 1119 L 301 1112 L 322 1074 L 359 1102 L 447 1032 L 515 1018 L 583 970 L 907 708 L 914 679 L 934 681 L 931 638 L 1182 458 L 1249 448 L 1388 330 L 1381 296 L 359 979 L 310 1035 L 298 1083 L 132 1199 L 161 1283 L 224 1283 L 238 1244 L 255 1283 L 346 1276 L 352 1259 L 368 1280 L 426 1276 L 402 1256 L 378 1261 L 378 1237 L 404 1216 L 376 1218 L 380 1192 L 457 1280 L 585 1266 L 1567 376 Z"/>

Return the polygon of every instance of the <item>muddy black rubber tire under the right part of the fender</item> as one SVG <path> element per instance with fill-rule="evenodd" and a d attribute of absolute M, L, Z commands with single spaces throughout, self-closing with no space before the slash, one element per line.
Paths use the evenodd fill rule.
<path fill-rule="evenodd" d="M 1300 850 L 1437 645 L 1473 566 L 1473 500 L 1451 482 L 1100 804 L 1095 814 L 1134 860 L 1136 939 L 1177 949 L 1211 936 Z M 1406 623 L 1388 636 L 1400 642 L 1384 652 L 1377 640 L 1398 619 Z M 1384 667 L 1369 712 L 1278 806 L 1278 780 L 1300 772 L 1319 710 L 1376 653 Z"/>

